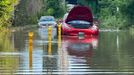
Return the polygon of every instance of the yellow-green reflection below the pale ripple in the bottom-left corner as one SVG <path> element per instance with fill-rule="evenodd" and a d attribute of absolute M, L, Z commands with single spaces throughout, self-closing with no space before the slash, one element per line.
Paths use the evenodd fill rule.
<path fill-rule="evenodd" d="M 9 55 L 0 56 L 0 74 L 14 73 L 19 68 L 19 57 Z"/>

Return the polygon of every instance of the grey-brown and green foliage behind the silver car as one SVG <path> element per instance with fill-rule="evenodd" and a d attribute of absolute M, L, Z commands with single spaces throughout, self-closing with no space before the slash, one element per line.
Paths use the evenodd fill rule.
<path fill-rule="evenodd" d="M 52 15 L 56 18 L 65 13 L 63 0 L 21 0 L 15 11 L 14 26 L 36 24 L 40 16 Z"/>

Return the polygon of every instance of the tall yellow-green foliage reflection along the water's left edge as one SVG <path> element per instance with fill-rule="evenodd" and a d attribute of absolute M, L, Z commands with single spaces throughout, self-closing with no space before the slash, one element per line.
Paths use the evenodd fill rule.
<path fill-rule="evenodd" d="M 13 48 L 11 33 L 0 32 L 0 74 L 12 74 L 19 68 L 19 57 Z M 13 54 L 15 52 L 15 54 Z M 12 56 L 15 55 L 15 56 Z"/>

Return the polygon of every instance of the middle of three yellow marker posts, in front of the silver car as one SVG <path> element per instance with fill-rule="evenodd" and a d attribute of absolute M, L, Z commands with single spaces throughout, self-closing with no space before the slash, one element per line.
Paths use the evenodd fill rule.
<path fill-rule="evenodd" d="M 52 53 L 52 26 L 48 27 L 48 55 Z"/>

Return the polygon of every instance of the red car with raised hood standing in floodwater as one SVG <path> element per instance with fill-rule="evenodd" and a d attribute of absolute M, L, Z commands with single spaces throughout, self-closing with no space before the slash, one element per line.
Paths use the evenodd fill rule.
<path fill-rule="evenodd" d="M 75 6 L 68 14 L 65 14 L 62 23 L 64 35 L 98 35 L 98 26 L 93 24 L 93 15 L 90 8 Z"/>

